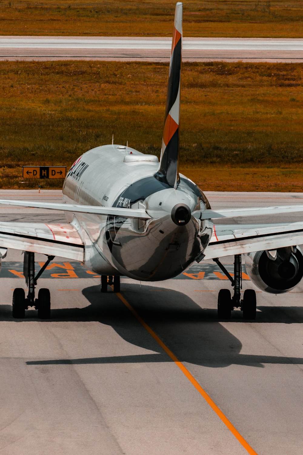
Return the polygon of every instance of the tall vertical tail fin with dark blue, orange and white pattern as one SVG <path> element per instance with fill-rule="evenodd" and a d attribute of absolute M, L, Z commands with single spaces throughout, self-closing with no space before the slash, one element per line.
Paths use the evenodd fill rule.
<path fill-rule="evenodd" d="M 177 188 L 179 177 L 179 118 L 180 118 L 180 73 L 182 59 L 182 10 L 181 2 L 176 4 L 174 34 L 169 64 L 169 82 L 165 121 L 162 137 L 160 165 L 155 177 L 170 187 Z"/>

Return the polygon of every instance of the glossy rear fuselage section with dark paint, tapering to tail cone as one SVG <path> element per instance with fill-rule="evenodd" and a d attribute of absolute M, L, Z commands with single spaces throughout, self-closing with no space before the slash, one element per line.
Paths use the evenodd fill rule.
<path fill-rule="evenodd" d="M 140 192 L 147 183 L 153 191 Z M 194 190 L 194 191 L 193 191 Z M 139 195 L 142 194 L 141 197 Z M 166 187 L 154 177 L 139 180 L 119 196 L 130 207 L 146 207 L 152 219 L 141 221 L 109 217 L 106 238 L 113 262 L 135 279 L 159 281 L 175 277 L 206 248 L 212 233 L 209 221 L 199 220 L 205 199 L 194 184 L 181 179 L 179 187 Z"/>

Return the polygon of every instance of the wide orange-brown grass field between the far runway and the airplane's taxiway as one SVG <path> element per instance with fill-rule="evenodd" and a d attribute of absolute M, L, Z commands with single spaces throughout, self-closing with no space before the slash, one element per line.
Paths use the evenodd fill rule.
<path fill-rule="evenodd" d="M 22 165 L 69 167 L 86 150 L 110 143 L 112 134 L 115 143 L 128 141 L 159 156 L 167 76 L 164 63 L 0 62 L 1 187 L 36 185 L 20 183 Z M 203 175 L 202 170 L 202 177 L 197 171 L 194 180 L 208 182 L 208 189 L 223 188 L 228 181 L 239 188 L 243 165 L 266 168 L 263 174 L 245 173 L 242 187 L 278 191 L 288 182 L 285 191 L 298 190 L 302 86 L 301 64 L 184 64 L 180 131 L 185 174 L 194 175 L 203 163 L 208 171 Z M 277 167 L 284 170 L 275 177 Z"/>

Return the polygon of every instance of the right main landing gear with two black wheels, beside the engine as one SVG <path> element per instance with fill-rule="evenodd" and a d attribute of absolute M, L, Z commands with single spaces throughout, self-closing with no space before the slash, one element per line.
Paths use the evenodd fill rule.
<path fill-rule="evenodd" d="M 234 308 L 240 308 L 243 311 L 243 318 L 253 320 L 256 319 L 257 301 L 256 292 L 253 289 L 246 289 L 241 299 L 242 289 L 242 263 L 241 255 L 234 256 L 233 263 L 233 277 L 228 273 L 223 264 L 220 263 L 218 258 L 213 259 L 222 272 L 231 281 L 233 286 L 233 297 L 229 289 L 221 289 L 218 295 L 218 318 L 230 319 L 231 312 Z"/>

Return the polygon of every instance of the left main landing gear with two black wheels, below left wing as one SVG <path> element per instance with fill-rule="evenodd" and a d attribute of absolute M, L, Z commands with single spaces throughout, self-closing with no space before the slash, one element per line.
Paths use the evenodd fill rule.
<path fill-rule="evenodd" d="M 25 292 L 22 288 L 16 288 L 13 292 L 13 318 L 23 319 L 25 310 L 29 307 L 35 307 L 38 310 L 38 318 L 50 319 L 50 291 L 42 288 L 38 292 L 38 298 L 35 298 L 35 286 L 45 268 L 49 265 L 55 256 L 48 256 L 47 261 L 41 267 L 40 271 L 35 276 L 35 253 L 24 253 L 23 273 L 25 282 L 28 286 L 28 294 L 25 298 Z"/>

